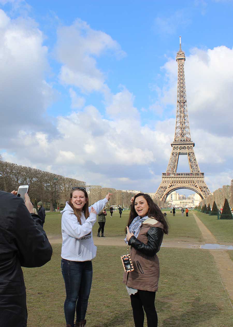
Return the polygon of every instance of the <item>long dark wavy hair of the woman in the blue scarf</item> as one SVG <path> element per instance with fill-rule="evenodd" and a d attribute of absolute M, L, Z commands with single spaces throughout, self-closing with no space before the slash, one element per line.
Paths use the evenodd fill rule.
<path fill-rule="evenodd" d="M 167 223 L 167 219 L 164 217 L 164 215 L 162 214 L 161 210 L 159 209 L 158 205 L 155 204 L 155 202 L 153 202 L 152 198 L 145 193 L 138 193 L 135 195 L 133 203 L 131 204 L 131 210 L 130 210 L 130 214 L 129 214 L 129 220 L 128 220 L 128 224 L 127 226 L 129 227 L 129 225 L 131 224 L 131 222 L 134 220 L 134 218 L 136 218 L 138 216 L 138 214 L 136 213 L 135 207 L 134 207 L 134 203 L 135 203 L 135 199 L 142 196 L 148 206 L 149 206 L 149 210 L 147 213 L 147 216 L 149 218 L 153 218 L 158 220 L 160 223 L 163 224 L 163 232 L 164 234 L 168 234 L 168 223 Z M 127 229 L 125 227 L 125 233 L 127 233 Z"/>

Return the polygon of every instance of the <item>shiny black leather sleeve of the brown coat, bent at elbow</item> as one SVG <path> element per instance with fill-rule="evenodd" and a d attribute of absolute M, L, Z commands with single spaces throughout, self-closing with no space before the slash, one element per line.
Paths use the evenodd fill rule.
<path fill-rule="evenodd" d="M 163 230 L 158 227 L 151 227 L 146 236 L 148 238 L 147 244 L 139 241 L 135 236 L 131 236 L 128 245 L 132 246 L 139 252 L 153 257 L 157 252 L 163 240 Z"/>

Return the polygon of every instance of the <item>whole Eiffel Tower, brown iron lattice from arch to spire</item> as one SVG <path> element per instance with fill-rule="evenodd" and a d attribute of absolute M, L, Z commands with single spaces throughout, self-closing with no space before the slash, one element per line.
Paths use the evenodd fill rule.
<path fill-rule="evenodd" d="M 193 149 L 195 143 L 191 141 L 190 136 L 184 77 L 185 54 L 181 49 L 181 37 L 180 49 L 177 52 L 176 61 L 178 64 L 178 83 L 175 138 L 174 142 L 171 143 L 172 153 L 166 173 L 162 173 L 162 181 L 154 196 L 154 199 L 161 201 L 165 201 L 167 196 L 173 191 L 182 188 L 198 193 L 202 199 L 211 194 L 204 181 L 204 173 L 200 172 Z M 190 173 L 176 172 L 180 155 L 188 156 Z"/>

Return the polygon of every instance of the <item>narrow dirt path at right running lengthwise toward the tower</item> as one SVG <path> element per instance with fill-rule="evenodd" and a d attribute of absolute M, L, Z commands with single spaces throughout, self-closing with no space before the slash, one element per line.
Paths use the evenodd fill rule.
<path fill-rule="evenodd" d="M 218 241 L 201 220 L 193 213 L 196 223 L 202 233 L 206 243 L 217 244 Z M 230 259 L 227 251 L 209 250 L 214 257 L 215 265 L 218 269 L 220 279 L 222 280 L 229 298 L 233 300 L 233 261 Z"/>

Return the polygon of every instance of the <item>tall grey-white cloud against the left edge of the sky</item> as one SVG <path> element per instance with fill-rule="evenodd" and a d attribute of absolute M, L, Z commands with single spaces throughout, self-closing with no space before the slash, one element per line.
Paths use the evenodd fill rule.
<path fill-rule="evenodd" d="M 53 129 L 41 120 L 55 94 L 45 81 L 48 49 L 35 21 L 10 19 L 1 9 L 0 21 L 0 137 L 14 146 L 20 129 Z"/>

